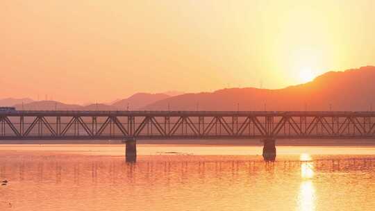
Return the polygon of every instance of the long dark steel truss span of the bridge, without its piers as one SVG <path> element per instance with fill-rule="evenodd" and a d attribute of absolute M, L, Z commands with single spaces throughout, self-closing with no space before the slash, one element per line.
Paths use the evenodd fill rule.
<path fill-rule="evenodd" d="M 372 139 L 375 112 L 0 111 L 0 140 Z"/>

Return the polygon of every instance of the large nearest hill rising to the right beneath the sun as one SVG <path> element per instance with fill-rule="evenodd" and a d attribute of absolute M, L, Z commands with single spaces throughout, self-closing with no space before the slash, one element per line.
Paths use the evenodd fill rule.
<path fill-rule="evenodd" d="M 232 88 L 182 94 L 142 110 L 375 110 L 375 67 L 330 71 L 279 90 Z M 239 106 L 238 106 L 239 105 Z"/>

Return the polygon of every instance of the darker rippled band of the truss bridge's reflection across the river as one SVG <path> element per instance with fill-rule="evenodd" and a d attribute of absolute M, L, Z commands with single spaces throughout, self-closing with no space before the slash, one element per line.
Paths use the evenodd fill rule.
<path fill-rule="evenodd" d="M 188 158 L 189 155 L 153 155 L 162 157 L 163 161 L 147 161 L 140 162 L 122 162 L 120 160 L 110 161 L 100 160 L 95 161 L 77 161 L 73 157 L 67 160 L 53 160 L 49 162 L 41 157 L 39 161 L 28 162 L 28 160 L 12 161 L 0 163 L 0 177 L 10 178 L 13 181 L 17 180 L 33 180 L 38 182 L 55 180 L 56 183 L 62 183 L 62 178 L 74 183 L 79 180 L 87 180 L 91 178 L 92 181 L 99 180 L 113 180 L 114 178 L 137 178 L 137 174 L 142 174 L 144 178 L 153 180 L 153 176 L 168 176 L 174 175 L 176 178 L 183 179 L 187 174 L 196 175 L 200 178 L 206 177 L 206 172 L 210 174 L 230 173 L 232 176 L 238 174 L 257 174 L 264 171 L 272 173 L 277 169 L 278 171 L 292 171 L 299 172 L 304 181 L 309 181 L 313 178 L 315 171 L 350 171 L 362 169 L 374 169 L 375 160 L 373 158 L 363 159 L 324 159 L 324 160 L 284 160 L 278 162 L 263 162 L 260 160 L 213 160 L 213 161 L 199 161 L 201 155 L 196 155 L 197 158 Z M 148 157 L 148 156 L 143 156 Z M 176 160 L 175 158 L 179 157 Z M 187 157 L 180 160 L 181 157 Z M 215 157 L 215 156 L 214 156 Z M 226 158 L 231 156 L 225 156 Z M 48 158 L 49 159 L 49 158 Z M 168 161 L 165 161 L 167 159 Z M 169 160 L 170 159 L 170 160 Z M 79 160 L 79 159 L 78 159 Z M 156 158 L 156 160 L 158 160 Z M 26 172 L 33 172 L 33 174 L 26 174 Z M 182 180 L 181 180 L 182 181 Z M 130 181 L 132 182 L 132 181 Z M 133 181 L 134 182 L 134 181 Z M 308 185 L 309 186 L 309 185 Z"/>

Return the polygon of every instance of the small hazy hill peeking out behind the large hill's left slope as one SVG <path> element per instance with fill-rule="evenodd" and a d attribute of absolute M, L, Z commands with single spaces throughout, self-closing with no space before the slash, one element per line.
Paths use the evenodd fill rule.
<path fill-rule="evenodd" d="M 149 94 L 149 93 L 137 93 L 128 97 L 127 99 L 122 99 L 112 104 L 118 110 L 126 110 L 129 106 L 129 110 L 140 110 L 144 106 L 167 99 L 169 95 L 167 94 Z"/>

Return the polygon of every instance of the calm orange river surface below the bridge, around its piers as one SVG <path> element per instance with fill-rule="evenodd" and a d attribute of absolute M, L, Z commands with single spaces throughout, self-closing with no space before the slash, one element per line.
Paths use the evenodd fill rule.
<path fill-rule="evenodd" d="M 375 148 L 0 145 L 0 210 L 375 210 Z"/>

